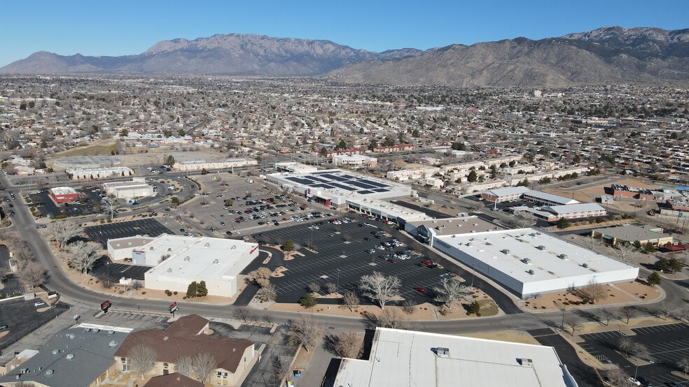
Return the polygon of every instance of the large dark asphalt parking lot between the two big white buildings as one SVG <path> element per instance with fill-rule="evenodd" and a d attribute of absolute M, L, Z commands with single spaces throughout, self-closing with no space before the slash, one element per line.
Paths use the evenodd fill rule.
<path fill-rule="evenodd" d="M 380 239 L 375 238 L 372 233 L 380 231 L 380 229 L 374 224 L 365 225 L 364 223 L 368 223 L 366 219 L 359 218 L 352 223 L 339 225 L 328 222 L 329 219 L 332 218 L 318 219 L 320 221 L 316 223 L 298 224 L 253 234 L 256 240 L 270 244 L 281 244 L 285 240 L 292 240 L 300 247 L 307 247 L 313 243 L 314 248 L 318 251 L 316 254 L 309 249 L 302 248 L 299 249 L 299 252 L 303 256 L 297 256 L 293 261 L 270 262 L 267 265 L 271 269 L 279 265 L 284 265 L 287 268 L 284 277 L 271 279 L 277 288 L 278 302 L 298 302 L 299 298 L 307 293 L 307 286 L 312 282 L 321 284 L 321 286 L 332 282 L 337 286 L 340 293 L 355 291 L 359 279 L 374 271 L 382 272 L 384 275 L 394 275 L 401 279 L 400 294 L 405 300 L 413 300 L 417 303 L 432 302 L 433 287 L 438 286 L 444 277 L 450 277 L 447 269 L 451 268 L 453 264 L 448 261 L 438 260 L 438 263 L 444 267 L 443 269 L 432 268 L 422 264 L 426 258 L 412 253 L 406 246 L 394 247 L 393 245 L 388 249 L 376 247 L 382 242 L 390 242 L 393 238 L 387 235 L 381 236 Z M 316 229 L 314 226 L 318 228 Z M 372 249 L 373 254 L 367 252 Z M 386 257 L 397 251 L 406 251 L 410 258 Z M 258 266 L 260 266 L 260 262 L 254 261 L 252 265 L 246 268 L 245 272 Z M 470 274 L 459 268 L 454 268 L 454 271 L 461 273 L 466 280 L 471 281 Z M 518 308 L 510 308 L 513 303 L 493 286 L 485 284 L 478 278 L 475 279 L 474 285 L 494 298 L 501 307 L 505 305 L 507 313 L 519 312 Z M 426 293 L 415 288 L 423 288 Z M 335 304 L 339 300 L 323 298 L 319 302 Z M 367 301 L 362 300 L 362 302 Z"/>

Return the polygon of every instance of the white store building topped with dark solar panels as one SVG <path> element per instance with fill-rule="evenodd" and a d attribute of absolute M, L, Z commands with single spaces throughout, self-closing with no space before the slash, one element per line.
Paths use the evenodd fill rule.
<path fill-rule="evenodd" d="M 341 169 L 272 173 L 267 175 L 266 180 L 324 205 L 343 206 L 348 199 L 391 200 L 416 196 L 416 191 L 405 184 Z"/>

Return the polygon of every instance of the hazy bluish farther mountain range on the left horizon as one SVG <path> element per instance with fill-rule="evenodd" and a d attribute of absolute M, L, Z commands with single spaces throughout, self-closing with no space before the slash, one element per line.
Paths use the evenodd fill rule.
<path fill-rule="evenodd" d="M 419 52 L 406 48 L 377 53 L 330 41 L 229 34 L 162 41 L 142 54 L 124 57 L 62 56 L 41 51 L 0 68 L 0 73 L 317 75 L 358 61 Z"/>

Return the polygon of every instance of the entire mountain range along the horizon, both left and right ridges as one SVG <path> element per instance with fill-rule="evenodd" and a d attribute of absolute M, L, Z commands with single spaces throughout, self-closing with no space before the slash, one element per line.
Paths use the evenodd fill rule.
<path fill-rule="evenodd" d="M 560 38 L 516 38 L 370 52 L 330 41 L 214 35 L 156 43 L 123 57 L 36 52 L 0 73 L 323 75 L 342 82 L 459 87 L 689 85 L 689 29 L 603 27 Z"/>

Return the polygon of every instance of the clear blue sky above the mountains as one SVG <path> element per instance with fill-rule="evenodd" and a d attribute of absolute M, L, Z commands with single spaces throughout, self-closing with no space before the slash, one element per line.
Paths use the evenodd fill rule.
<path fill-rule="evenodd" d="M 158 41 L 231 33 L 384 51 L 540 39 L 609 25 L 689 27 L 687 0 L 4 0 L 0 14 L 0 66 L 41 50 L 139 54 Z"/>

